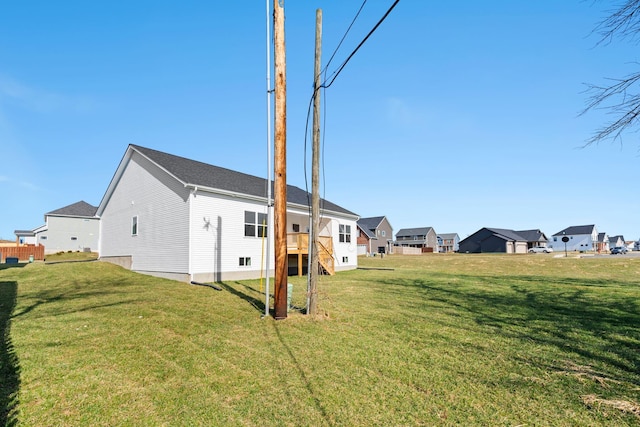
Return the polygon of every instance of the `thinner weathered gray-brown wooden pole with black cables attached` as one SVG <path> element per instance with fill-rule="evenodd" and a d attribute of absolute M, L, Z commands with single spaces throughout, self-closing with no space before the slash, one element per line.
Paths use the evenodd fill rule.
<path fill-rule="evenodd" d="M 322 9 L 316 10 L 316 57 L 313 79 L 313 148 L 311 156 L 311 265 L 308 313 L 318 312 L 318 233 L 320 232 L 320 58 L 322 55 Z"/>

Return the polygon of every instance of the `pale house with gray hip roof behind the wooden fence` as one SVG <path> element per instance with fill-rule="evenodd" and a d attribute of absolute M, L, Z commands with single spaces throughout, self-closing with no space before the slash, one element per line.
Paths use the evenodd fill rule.
<path fill-rule="evenodd" d="M 79 201 L 46 213 L 45 224 L 32 230 L 35 243 L 44 246 L 45 254 L 97 251 L 100 237 L 97 209 L 85 201 Z"/>

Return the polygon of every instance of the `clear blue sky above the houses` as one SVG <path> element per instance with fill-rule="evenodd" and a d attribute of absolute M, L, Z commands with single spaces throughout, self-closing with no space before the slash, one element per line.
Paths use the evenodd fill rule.
<path fill-rule="evenodd" d="M 366 3 L 330 72 L 392 3 Z M 285 3 L 289 184 L 304 188 L 310 163 L 315 10 L 326 64 L 361 4 Z M 611 7 L 401 0 L 323 93 L 323 197 L 395 231 L 640 238 L 638 135 L 581 148 L 609 119 L 578 115 L 584 83 L 637 67 L 637 46 L 596 46 Z M 4 5 L 0 237 L 98 205 L 130 143 L 266 176 L 265 14 L 260 1 Z"/>

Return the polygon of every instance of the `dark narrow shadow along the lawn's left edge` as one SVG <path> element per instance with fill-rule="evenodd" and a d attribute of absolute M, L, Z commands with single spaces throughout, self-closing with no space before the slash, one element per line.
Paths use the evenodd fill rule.
<path fill-rule="evenodd" d="M 0 282 L 0 425 L 17 425 L 20 363 L 11 342 L 11 313 L 18 284 Z"/>

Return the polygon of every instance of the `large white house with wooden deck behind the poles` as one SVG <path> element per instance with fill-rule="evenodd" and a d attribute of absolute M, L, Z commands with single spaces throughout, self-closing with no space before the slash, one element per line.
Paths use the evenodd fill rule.
<path fill-rule="evenodd" d="M 274 254 L 267 182 L 129 145 L 98 207 L 100 259 L 175 280 L 262 277 L 266 254 Z M 308 264 L 308 200 L 307 192 L 287 186 L 290 274 Z M 357 268 L 358 216 L 326 200 L 320 206 L 322 268 L 330 274 Z"/>

